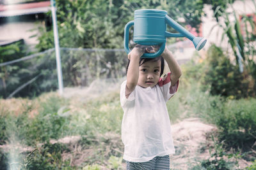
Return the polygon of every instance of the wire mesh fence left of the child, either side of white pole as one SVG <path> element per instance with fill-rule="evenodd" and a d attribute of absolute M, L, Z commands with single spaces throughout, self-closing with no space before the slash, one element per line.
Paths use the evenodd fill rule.
<path fill-rule="evenodd" d="M 125 76 L 123 49 L 60 48 L 64 87 Z M 33 97 L 58 89 L 54 49 L 0 64 L 0 97 Z"/>

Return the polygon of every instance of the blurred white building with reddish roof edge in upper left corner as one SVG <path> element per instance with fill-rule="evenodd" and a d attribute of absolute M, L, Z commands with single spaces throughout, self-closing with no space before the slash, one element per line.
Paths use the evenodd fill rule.
<path fill-rule="evenodd" d="M 33 49 L 38 43 L 38 27 L 51 24 L 51 18 L 45 15 L 50 10 L 50 1 L 0 1 L 0 46 L 24 41 Z"/>

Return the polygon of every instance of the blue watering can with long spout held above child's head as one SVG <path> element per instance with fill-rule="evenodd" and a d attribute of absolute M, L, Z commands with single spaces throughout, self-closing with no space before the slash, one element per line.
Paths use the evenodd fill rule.
<path fill-rule="evenodd" d="M 171 33 L 166 31 L 166 24 L 170 25 L 180 33 Z M 167 15 L 164 10 L 136 10 L 134 11 L 134 20 L 128 22 L 124 28 L 124 48 L 129 53 L 129 29 L 134 25 L 134 43 L 140 45 L 159 45 L 160 48 L 156 53 L 144 53 L 143 58 L 154 58 L 163 53 L 166 43 L 166 37 L 186 37 L 195 45 L 196 50 L 201 50 L 206 39 L 195 37 L 189 31 L 184 29 L 175 20 Z"/>

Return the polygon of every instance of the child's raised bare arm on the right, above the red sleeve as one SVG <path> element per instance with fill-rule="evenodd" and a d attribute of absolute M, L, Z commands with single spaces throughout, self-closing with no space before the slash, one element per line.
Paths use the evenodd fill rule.
<path fill-rule="evenodd" d="M 180 66 L 177 60 L 174 59 L 172 52 L 170 52 L 166 46 L 164 48 L 164 52 L 162 53 L 162 56 L 164 60 L 166 60 L 169 66 L 169 69 L 171 71 L 171 74 L 170 74 L 171 86 L 174 86 L 181 76 Z"/>

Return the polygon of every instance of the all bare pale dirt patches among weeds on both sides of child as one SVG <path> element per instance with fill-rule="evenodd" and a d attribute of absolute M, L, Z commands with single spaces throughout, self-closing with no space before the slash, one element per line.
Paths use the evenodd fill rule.
<path fill-rule="evenodd" d="M 172 134 L 176 153 L 170 155 L 171 169 L 189 169 L 189 167 L 199 164 L 200 160 L 209 159 L 211 157 L 209 147 L 213 146 L 211 134 L 214 131 L 216 131 L 214 125 L 204 124 L 199 118 L 188 118 L 177 124 L 173 124 Z M 106 155 L 113 152 L 122 153 L 123 146 L 118 134 L 104 134 L 104 136 L 99 136 L 99 138 L 104 138 L 104 141 L 108 141 L 108 143 L 95 141 L 99 143 L 99 145 L 104 146 L 104 150 L 101 151 L 102 153 Z M 70 164 L 73 166 L 79 166 L 84 164 L 84 160 L 95 154 L 93 148 L 84 148 L 83 146 L 80 146 L 78 144 L 80 139 L 81 136 L 67 136 L 58 139 L 58 141 L 51 140 L 51 143 L 65 143 L 70 146 L 72 152 L 64 153 L 62 157 L 64 160 L 71 159 L 72 161 Z M 1 145 L 0 148 L 8 152 L 8 150 L 12 150 L 13 145 Z M 15 148 L 19 149 L 20 152 L 29 152 L 29 150 L 33 150 L 33 148 L 29 147 L 19 147 L 17 144 L 15 145 Z M 95 164 L 96 163 L 99 164 L 100 162 L 95 162 Z M 105 164 L 108 164 L 107 160 Z M 239 166 L 239 168 L 243 169 L 244 167 L 250 166 L 250 162 L 241 159 L 239 160 Z M 108 168 L 102 166 L 101 169 L 104 170 Z M 122 163 L 122 169 L 125 169 L 125 163 Z"/>

